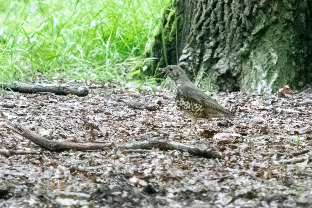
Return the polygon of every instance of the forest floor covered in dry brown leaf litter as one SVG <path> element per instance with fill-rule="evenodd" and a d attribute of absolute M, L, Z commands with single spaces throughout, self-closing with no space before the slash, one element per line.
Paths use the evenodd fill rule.
<path fill-rule="evenodd" d="M 312 207 L 312 90 L 277 95 L 213 94 L 237 119 L 190 118 L 168 90 L 87 84 L 86 97 L 2 93 L 0 207 Z M 158 103 L 134 110 L 122 102 Z M 301 103 L 305 102 L 305 103 Z M 2 106 L 2 107 L 1 107 Z M 52 130 L 53 140 L 74 143 L 174 140 L 217 148 L 224 159 L 187 152 L 51 152 L 5 127 L 7 121 Z"/>

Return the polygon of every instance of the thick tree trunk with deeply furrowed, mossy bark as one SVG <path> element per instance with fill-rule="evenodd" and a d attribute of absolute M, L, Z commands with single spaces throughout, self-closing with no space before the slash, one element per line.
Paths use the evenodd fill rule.
<path fill-rule="evenodd" d="M 312 84 L 311 7 L 312 0 L 173 0 L 163 16 L 168 65 L 178 57 L 190 78 L 216 92 Z M 160 33 L 154 56 L 164 67 L 162 46 Z"/>

